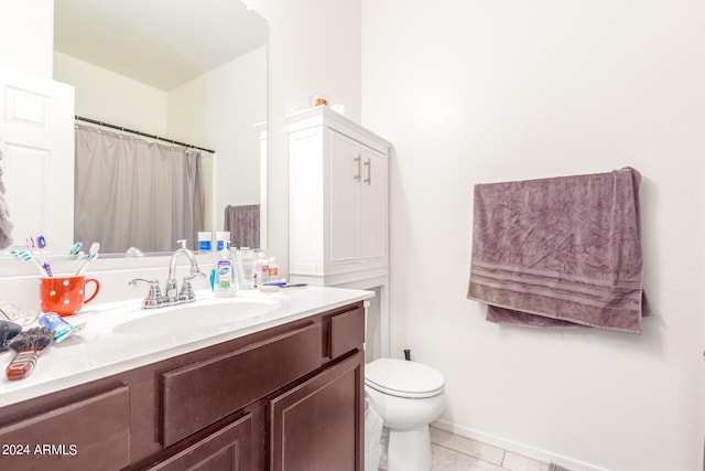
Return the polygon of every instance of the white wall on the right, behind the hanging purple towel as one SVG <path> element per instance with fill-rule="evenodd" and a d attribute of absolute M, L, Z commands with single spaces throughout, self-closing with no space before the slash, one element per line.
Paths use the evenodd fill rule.
<path fill-rule="evenodd" d="M 444 427 L 571 469 L 702 469 L 704 10 L 362 0 L 362 121 L 397 151 L 392 352 L 443 372 Z M 643 175 L 643 334 L 486 322 L 473 185 L 623 165 Z"/>

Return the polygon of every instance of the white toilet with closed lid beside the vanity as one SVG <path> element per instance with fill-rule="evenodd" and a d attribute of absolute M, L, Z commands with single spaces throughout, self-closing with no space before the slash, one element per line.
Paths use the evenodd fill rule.
<path fill-rule="evenodd" d="M 445 409 L 444 387 L 443 375 L 421 363 L 378 358 L 365 366 L 367 400 L 389 431 L 383 469 L 431 470 L 429 424 Z"/>

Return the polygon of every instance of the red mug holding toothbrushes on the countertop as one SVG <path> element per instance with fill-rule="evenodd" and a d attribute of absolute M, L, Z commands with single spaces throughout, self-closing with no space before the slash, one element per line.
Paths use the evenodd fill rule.
<path fill-rule="evenodd" d="M 95 283 L 90 297 L 86 298 L 86 285 Z M 100 282 L 86 277 L 52 277 L 40 280 L 40 302 L 42 312 L 56 312 L 58 315 L 75 314 L 94 300 L 100 291 Z"/>

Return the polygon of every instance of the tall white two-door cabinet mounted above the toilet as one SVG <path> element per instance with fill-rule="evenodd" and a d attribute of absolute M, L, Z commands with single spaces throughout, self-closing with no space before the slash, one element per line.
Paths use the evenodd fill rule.
<path fill-rule="evenodd" d="M 390 143 L 325 106 L 288 120 L 291 278 L 388 275 Z"/>

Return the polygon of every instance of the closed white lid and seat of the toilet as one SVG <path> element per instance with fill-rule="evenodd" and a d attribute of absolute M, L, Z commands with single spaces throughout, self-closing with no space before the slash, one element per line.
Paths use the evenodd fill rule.
<path fill-rule="evenodd" d="M 392 396 L 421 398 L 441 394 L 445 379 L 422 363 L 378 358 L 365 365 L 365 384 Z"/>

